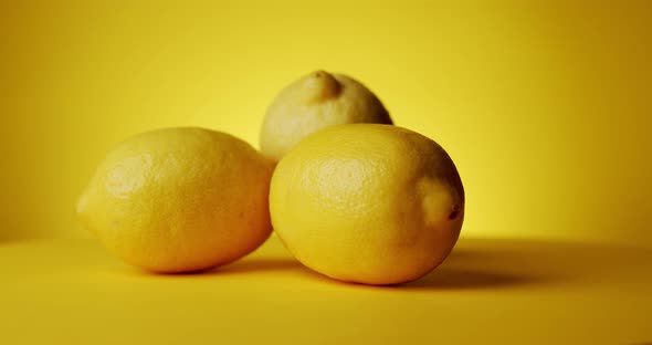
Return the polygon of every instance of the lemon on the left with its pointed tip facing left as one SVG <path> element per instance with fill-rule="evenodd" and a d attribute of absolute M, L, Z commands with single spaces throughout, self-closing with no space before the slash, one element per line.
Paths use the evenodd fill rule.
<path fill-rule="evenodd" d="M 148 132 L 106 156 L 77 213 L 127 263 L 167 273 L 204 270 L 270 236 L 272 171 L 272 161 L 224 133 Z"/>

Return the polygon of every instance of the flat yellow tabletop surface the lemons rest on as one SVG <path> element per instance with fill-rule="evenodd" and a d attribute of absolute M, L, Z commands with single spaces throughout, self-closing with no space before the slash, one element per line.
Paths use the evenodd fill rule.
<path fill-rule="evenodd" d="M 462 240 L 401 288 L 351 285 L 276 238 L 203 274 L 153 275 L 90 240 L 0 245 L 1 344 L 643 344 L 650 249 Z"/>

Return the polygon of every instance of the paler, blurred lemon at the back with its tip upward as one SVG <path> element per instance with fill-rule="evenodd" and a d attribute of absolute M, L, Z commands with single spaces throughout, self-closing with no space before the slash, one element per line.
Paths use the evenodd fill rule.
<path fill-rule="evenodd" d="M 341 124 L 391 124 L 376 95 L 344 74 L 313 72 L 286 86 L 265 114 L 261 151 L 281 159 L 311 133 Z"/>

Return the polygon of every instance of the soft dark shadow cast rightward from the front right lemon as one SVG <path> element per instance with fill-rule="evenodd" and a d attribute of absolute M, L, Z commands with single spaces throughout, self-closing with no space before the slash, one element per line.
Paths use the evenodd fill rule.
<path fill-rule="evenodd" d="M 435 270 L 404 289 L 490 289 L 596 283 L 650 266 L 646 250 L 541 240 L 461 239 Z"/>

